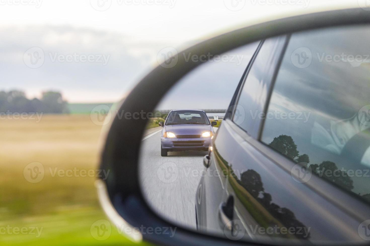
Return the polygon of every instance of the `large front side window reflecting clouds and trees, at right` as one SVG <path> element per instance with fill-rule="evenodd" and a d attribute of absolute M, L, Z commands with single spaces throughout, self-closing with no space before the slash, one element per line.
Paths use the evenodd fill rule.
<path fill-rule="evenodd" d="M 370 200 L 369 37 L 365 26 L 293 34 L 262 134 L 271 148 L 365 200 Z"/>

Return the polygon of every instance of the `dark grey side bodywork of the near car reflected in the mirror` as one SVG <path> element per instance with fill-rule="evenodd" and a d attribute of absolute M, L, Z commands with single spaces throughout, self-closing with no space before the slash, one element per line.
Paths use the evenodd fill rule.
<path fill-rule="evenodd" d="M 361 222 L 370 218 L 369 195 L 366 197 L 366 194 L 364 194 L 366 193 L 364 184 L 368 185 L 369 178 L 363 178 L 358 183 L 353 179 L 356 181 L 353 184 L 354 188 L 350 187 L 348 190 L 343 188 L 344 182 L 336 183 L 337 180 L 325 179 L 314 174 L 312 174 L 309 181 L 297 181 L 292 174 L 292 170 L 299 162 L 297 159 L 300 156 L 291 158 L 281 153 L 281 150 L 273 147 L 274 145 L 272 144 L 279 137 L 289 138 L 289 136 L 279 136 L 277 134 L 275 138 L 271 138 L 270 141 L 274 139 L 271 143 L 263 141 L 263 136 L 267 132 L 266 124 L 268 124 L 269 129 L 272 129 L 271 131 L 278 131 L 279 129 L 289 131 L 289 127 L 284 127 L 283 124 L 281 125 L 282 128 L 279 128 L 280 125 L 277 124 L 273 126 L 263 117 L 257 117 L 250 121 L 249 125 L 246 124 L 244 118 L 240 121 L 240 115 L 247 118 L 250 113 L 266 112 L 269 104 L 275 102 L 272 99 L 273 90 L 279 87 L 274 83 L 276 82 L 280 66 L 284 63 L 284 55 L 287 54 L 290 59 L 291 53 L 286 51 L 287 47 L 289 48 L 290 38 L 290 35 L 284 35 L 262 41 L 240 80 L 230 103 L 229 111 L 212 139 L 213 150 L 209 152 L 209 156 L 207 156 L 208 161 L 205 162 L 207 175 L 202 176 L 196 192 L 197 228 L 201 232 L 222 233 L 226 236 L 229 232 L 234 234 L 230 238 L 235 240 L 240 238 L 245 240 L 261 239 L 266 240 L 268 243 L 279 243 L 279 239 L 306 240 L 307 243 L 310 241 L 359 242 L 361 241 L 359 233 L 365 228 L 365 226 L 361 227 Z M 265 48 L 265 51 L 262 52 L 263 48 Z M 334 76 L 333 73 L 330 73 L 329 67 L 329 65 L 333 66 L 332 63 L 326 65 L 326 63 L 317 62 L 317 64 L 317 66 L 325 66 L 325 69 L 322 69 L 322 71 Z M 260 73 L 253 71 L 253 65 Z M 290 65 L 290 67 L 295 69 L 294 71 L 302 73 L 307 71 L 299 70 L 292 64 Z M 316 63 L 310 66 L 309 69 L 314 70 Z M 350 66 L 347 67 L 352 69 Z M 308 71 L 311 72 L 311 70 Z M 313 75 L 315 73 L 310 73 L 310 76 Z M 257 84 L 253 87 L 256 90 L 252 91 L 253 97 L 256 99 L 243 102 L 243 99 L 241 99 L 244 97 L 243 93 L 245 93 L 243 88 L 248 87 L 247 83 L 250 83 L 248 81 L 249 77 L 253 77 L 253 83 Z M 289 79 L 289 76 L 287 77 Z M 309 76 L 301 77 L 303 78 L 301 80 L 307 79 L 307 77 L 309 78 Z M 325 82 L 328 83 L 327 81 Z M 327 91 L 330 93 L 333 91 L 324 82 L 321 84 L 326 86 Z M 285 91 L 298 90 L 297 87 L 293 86 L 286 86 L 286 88 Z M 308 91 L 307 88 L 309 86 L 305 88 L 306 91 Z M 326 88 L 324 87 L 321 90 L 320 93 L 324 95 Z M 296 94 L 299 95 L 298 92 Z M 302 97 L 300 95 L 297 98 Z M 292 99 L 288 98 L 287 100 Z M 310 98 L 307 99 L 307 101 L 309 100 Z M 355 100 L 353 99 L 353 101 Z M 328 103 L 328 105 L 338 104 Z M 239 119 L 237 119 L 235 117 L 238 114 L 236 109 L 238 107 L 242 108 L 241 106 L 248 108 L 245 108 L 244 115 L 239 113 Z M 361 108 L 361 106 L 358 107 Z M 323 104 L 319 104 L 315 110 L 319 111 L 322 108 Z M 252 111 L 249 111 L 249 109 Z M 315 112 L 314 110 L 312 111 Z M 335 112 L 340 112 L 340 110 Z M 315 118 L 312 119 L 316 121 Z M 339 122 L 342 124 L 343 120 Z M 285 121 L 284 124 L 287 123 Z M 302 126 L 310 126 L 310 121 L 305 122 L 305 124 Z M 302 127 L 301 130 L 301 132 L 297 133 L 297 136 L 303 135 L 304 128 Z M 314 136 L 314 133 L 309 135 L 310 139 L 307 139 L 307 145 L 317 141 L 312 136 Z M 298 148 L 303 146 L 299 144 L 297 137 L 293 139 L 296 141 Z M 311 160 L 315 160 L 320 156 L 321 149 L 311 148 L 310 150 L 313 153 L 317 153 L 317 156 L 314 154 L 309 156 Z M 361 152 L 361 156 L 363 154 Z M 334 160 L 334 157 L 331 159 L 330 154 L 327 154 L 325 158 L 327 159 L 320 159 L 320 162 L 322 162 L 320 165 L 327 163 L 328 160 Z M 341 166 L 339 164 L 340 159 L 339 156 L 335 161 L 338 166 Z M 312 161 L 312 163 L 315 162 Z M 314 165 L 320 166 L 319 162 Z M 219 175 L 214 175 L 215 173 Z M 349 180 L 346 179 L 346 181 L 346 185 L 350 186 Z M 364 187 L 365 192 L 361 193 L 361 195 L 355 192 L 356 184 L 357 187 Z M 351 190 L 353 192 L 350 192 Z M 367 199 L 367 202 L 364 198 Z M 289 233 L 283 234 L 279 231 L 271 234 L 259 233 L 259 228 L 266 229 L 269 226 L 300 228 L 302 233 L 293 235 L 289 235 Z M 238 231 L 235 231 L 238 229 L 240 229 L 239 231 L 242 232 L 242 235 L 240 233 L 238 235 Z"/>

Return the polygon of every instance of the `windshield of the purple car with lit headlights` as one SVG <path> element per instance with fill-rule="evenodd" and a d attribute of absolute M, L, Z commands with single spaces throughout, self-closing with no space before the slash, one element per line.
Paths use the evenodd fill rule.
<path fill-rule="evenodd" d="M 200 124 L 209 125 L 207 115 L 202 111 L 172 111 L 167 116 L 166 125 Z"/>

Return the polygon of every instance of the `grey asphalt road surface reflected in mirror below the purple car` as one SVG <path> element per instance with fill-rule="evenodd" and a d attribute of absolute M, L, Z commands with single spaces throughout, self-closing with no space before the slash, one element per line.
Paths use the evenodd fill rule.
<path fill-rule="evenodd" d="M 206 151 L 168 152 L 161 156 L 161 132 L 142 141 L 139 166 L 142 191 L 148 204 L 174 224 L 196 229 L 195 192 Z"/>

